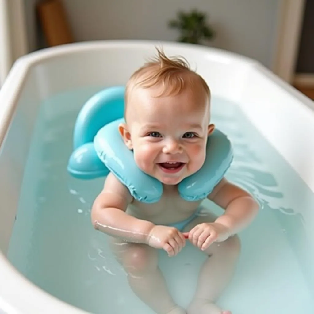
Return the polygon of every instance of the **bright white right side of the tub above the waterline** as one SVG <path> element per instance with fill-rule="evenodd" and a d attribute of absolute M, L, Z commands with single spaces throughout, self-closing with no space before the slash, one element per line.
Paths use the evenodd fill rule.
<path fill-rule="evenodd" d="M 313 101 L 257 65 L 238 104 L 314 192 Z M 313 220 L 307 223 L 313 226 Z"/>

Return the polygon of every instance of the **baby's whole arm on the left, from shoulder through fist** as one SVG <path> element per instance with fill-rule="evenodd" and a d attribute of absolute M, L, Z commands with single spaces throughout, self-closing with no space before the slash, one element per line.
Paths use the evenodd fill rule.
<path fill-rule="evenodd" d="M 132 199 L 127 187 L 110 173 L 92 206 L 91 219 L 95 229 L 127 242 L 164 249 L 169 256 L 180 252 L 185 245 L 183 234 L 174 227 L 154 225 L 128 215 L 126 210 Z"/>

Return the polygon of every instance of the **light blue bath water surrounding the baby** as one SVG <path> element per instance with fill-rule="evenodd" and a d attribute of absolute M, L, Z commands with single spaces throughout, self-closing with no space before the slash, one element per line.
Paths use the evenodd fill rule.
<path fill-rule="evenodd" d="M 99 89 L 69 91 L 42 104 L 8 258 L 42 289 L 91 313 L 152 314 L 133 295 L 106 235 L 90 223 L 103 178 L 80 181 L 66 171 L 78 110 Z M 212 108 L 213 122 L 235 150 L 227 178 L 262 206 L 240 234 L 241 258 L 219 304 L 234 314 L 313 313 L 314 195 L 236 104 L 214 97 Z M 174 258 L 160 251 L 160 268 L 180 305 L 191 300 L 205 258 L 191 245 Z"/>

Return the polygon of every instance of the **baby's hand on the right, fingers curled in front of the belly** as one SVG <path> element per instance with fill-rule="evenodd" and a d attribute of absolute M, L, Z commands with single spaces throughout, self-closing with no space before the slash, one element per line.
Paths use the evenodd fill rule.
<path fill-rule="evenodd" d="M 196 225 L 189 232 L 184 233 L 189 241 L 199 249 L 206 250 L 213 242 L 225 241 L 229 237 L 229 230 L 219 223 L 202 223 Z"/>

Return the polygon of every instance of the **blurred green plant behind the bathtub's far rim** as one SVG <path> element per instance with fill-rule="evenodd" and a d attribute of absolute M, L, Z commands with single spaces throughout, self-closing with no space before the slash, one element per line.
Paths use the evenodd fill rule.
<path fill-rule="evenodd" d="M 177 41 L 200 45 L 203 41 L 210 41 L 215 37 L 215 32 L 206 19 L 207 14 L 197 9 L 187 13 L 179 11 L 177 18 L 170 20 L 168 26 L 179 30 Z"/>

